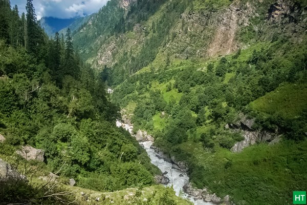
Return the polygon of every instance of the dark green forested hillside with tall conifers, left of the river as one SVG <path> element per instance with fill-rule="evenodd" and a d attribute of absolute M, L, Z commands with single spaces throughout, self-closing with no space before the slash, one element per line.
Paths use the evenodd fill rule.
<path fill-rule="evenodd" d="M 80 59 L 70 29 L 49 38 L 32 0 L 26 9 L 20 17 L 17 6 L 11 9 L 10 1 L 0 1 L 0 203 L 83 203 L 84 197 L 77 200 L 76 191 L 62 187 L 69 178 L 101 192 L 153 185 L 160 171 L 138 142 L 116 127 L 119 107 L 109 100 L 102 73 Z M 43 161 L 18 156 L 16 150 L 26 145 L 43 150 Z M 50 172 L 60 178 L 37 179 L 56 176 Z M 141 203 L 140 190 L 130 191 L 131 200 Z M 153 202 L 175 201 L 170 189 L 148 190 L 146 197 Z M 113 199 L 116 195 L 102 202 Z"/>

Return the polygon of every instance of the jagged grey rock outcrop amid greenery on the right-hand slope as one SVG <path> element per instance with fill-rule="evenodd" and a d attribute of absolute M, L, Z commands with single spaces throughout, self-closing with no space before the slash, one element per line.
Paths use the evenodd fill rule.
<path fill-rule="evenodd" d="M 246 115 L 243 113 L 239 114 L 240 120 L 233 122 L 232 124 L 227 124 L 225 126 L 226 129 L 233 129 L 236 132 L 243 131 L 244 140 L 237 142 L 232 148 L 233 152 L 240 152 L 244 148 L 254 145 L 256 142 L 271 142 L 271 144 L 278 142 L 279 140 L 274 140 L 276 133 L 269 133 L 266 130 L 254 130 L 253 125 L 255 119 L 248 119 Z M 280 138 L 279 138 L 280 139 Z"/>

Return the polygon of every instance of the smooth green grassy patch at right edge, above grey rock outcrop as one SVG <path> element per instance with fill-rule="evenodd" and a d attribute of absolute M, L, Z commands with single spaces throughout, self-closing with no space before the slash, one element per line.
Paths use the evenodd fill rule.
<path fill-rule="evenodd" d="M 307 84 L 283 84 L 250 104 L 253 110 L 294 118 L 307 109 Z"/>

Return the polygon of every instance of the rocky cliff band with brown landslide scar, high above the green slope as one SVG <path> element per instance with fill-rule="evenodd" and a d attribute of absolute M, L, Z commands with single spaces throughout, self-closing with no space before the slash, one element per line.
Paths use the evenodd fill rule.
<path fill-rule="evenodd" d="M 163 31 L 165 34 L 159 39 L 160 46 L 152 48 L 157 49 L 155 57 L 149 60 L 153 61 L 153 65 L 161 66 L 166 59 L 199 59 L 226 55 L 238 48 L 246 48 L 259 39 L 272 39 L 278 34 L 301 36 L 306 31 L 306 8 L 295 1 L 233 1 L 230 5 L 217 8 L 196 7 L 193 4 L 198 1 L 192 2 L 188 3 L 181 14 L 173 14 L 176 15 L 173 18 L 175 20 L 170 22 L 172 25 L 167 31 Z M 135 4 L 137 3 L 134 0 L 119 2 L 120 8 L 126 11 Z M 131 66 L 135 67 L 133 59 L 138 60 L 146 42 L 153 40 L 152 36 L 161 32 L 157 30 L 157 23 L 163 21 L 166 15 L 172 15 L 167 13 L 170 6 L 173 6 L 172 2 L 165 1 L 156 12 L 150 13 L 149 18 L 141 22 L 132 19 L 137 11 L 130 10 L 130 15 L 125 17 L 123 24 L 130 25 L 134 22 L 131 30 L 114 35 L 96 35 L 92 44 L 98 50 L 85 51 L 85 48 L 82 52 L 92 52 L 88 61 L 97 68 L 105 65 L 114 67 L 116 64 L 122 65 L 126 70 L 131 69 Z M 98 17 L 94 16 L 93 19 Z M 93 25 L 85 26 L 84 29 L 91 26 Z M 75 37 L 76 41 L 79 40 L 78 34 Z"/>

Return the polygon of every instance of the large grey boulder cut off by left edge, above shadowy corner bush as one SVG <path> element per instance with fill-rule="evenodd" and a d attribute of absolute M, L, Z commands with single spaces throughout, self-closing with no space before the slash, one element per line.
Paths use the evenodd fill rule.
<path fill-rule="evenodd" d="M 17 170 L 13 169 L 9 163 L 0 159 L 0 181 L 12 179 L 26 179 L 26 176 L 21 175 Z"/>

